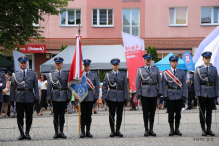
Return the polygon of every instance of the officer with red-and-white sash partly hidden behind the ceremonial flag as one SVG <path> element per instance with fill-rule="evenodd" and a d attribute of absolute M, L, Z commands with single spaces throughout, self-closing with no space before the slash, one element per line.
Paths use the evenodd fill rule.
<path fill-rule="evenodd" d="M 91 60 L 84 60 L 85 74 L 87 80 L 88 87 L 88 95 L 81 102 L 81 135 L 80 138 L 93 137 L 90 134 L 90 125 L 91 125 L 91 115 L 93 104 L 96 103 L 99 97 L 99 80 L 96 73 L 90 71 L 90 63 Z M 85 135 L 85 125 L 86 125 L 86 135 Z"/>

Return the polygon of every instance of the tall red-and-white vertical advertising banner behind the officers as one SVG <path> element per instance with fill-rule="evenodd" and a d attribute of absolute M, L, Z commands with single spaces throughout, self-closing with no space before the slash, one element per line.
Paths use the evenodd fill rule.
<path fill-rule="evenodd" d="M 122 32 L 122 39 L 130 88 L 136 91 L 135 79 L 137 71 L 140 66 L 144 65 L 144 60 L 142 58 L 142 55 L 145 54 L 144 40 L 124 32 Z"/>

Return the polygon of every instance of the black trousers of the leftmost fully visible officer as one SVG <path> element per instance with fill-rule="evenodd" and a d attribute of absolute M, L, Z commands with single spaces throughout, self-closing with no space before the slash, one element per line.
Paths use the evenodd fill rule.
<path fill-rule="evenodd" d="M 16 102 L 17 125 L 20 133 L 24 132 L 24 112 L 26 113 L 26 133 L 29 133 L 33 120 L 33 103 Z"/>

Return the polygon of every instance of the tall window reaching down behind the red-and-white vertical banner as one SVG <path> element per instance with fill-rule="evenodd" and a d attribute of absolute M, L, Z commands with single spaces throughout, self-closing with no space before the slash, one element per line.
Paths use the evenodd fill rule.
<path fill-rule="evenodd" d="M 122 17 L 122 31 L 131 35 L 139 36 L 139 9 L 123 9 Z"/>

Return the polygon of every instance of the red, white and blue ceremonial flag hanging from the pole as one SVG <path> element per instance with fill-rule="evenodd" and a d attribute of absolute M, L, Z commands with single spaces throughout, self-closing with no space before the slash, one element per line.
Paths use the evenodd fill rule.
<path fill-rule="evenodd" d="M 72 64 L 69 70 L 68 88 L 74 93 L 77 99 L 82 102 L 88 95 L 87 81 L 83 70 L 83 57 L 81 51 L 81 36 L 77 37 L 77 43 L 75 47 L 75 54 L 72 60 Z"/>

